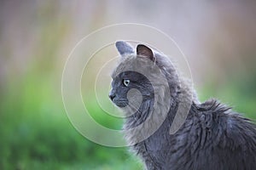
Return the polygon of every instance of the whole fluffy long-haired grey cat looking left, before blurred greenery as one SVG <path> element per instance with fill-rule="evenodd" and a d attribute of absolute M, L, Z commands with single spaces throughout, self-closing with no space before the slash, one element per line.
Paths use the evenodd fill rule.
<path fill-rule="evenodd" d="M 143 44 L 135 51 L 116 42 L 116 48 L 120 61 L 109 98 L 125 111 L 127 142 L 148 170 L 256 169 L 256 127 L 250 120 L 217 100 L 200 103 L 164 54 Z M 170 133 L 175 116 L 186 112 L 178 109 L 181 103 L 189 104 L 188 114 Z"/>

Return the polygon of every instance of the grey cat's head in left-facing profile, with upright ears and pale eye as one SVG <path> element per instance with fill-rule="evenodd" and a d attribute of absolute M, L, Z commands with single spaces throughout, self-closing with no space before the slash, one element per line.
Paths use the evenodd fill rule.
<path fill-rule="evenodd" d="M 163 99 L 171 89 L 172 92 L 177 91 L 169 83 L 170 78 L 176 81 L 177 77 L 170 76 L 175 71 L 168 65 L 166 57 L 143 44 L 137 45 L 136 49 L 127 42 L 116 42 L 115 45 L 120 61 L 113 71 L 112 89 L 109 93 L 109 98 L 115 105 L 122 108 L 129 105 L 129 102 L 137 104 L 155 98 Z M 174 84 L 177 88 L 177 82 Z M 131 89 L 136 90 L 130 93 Z"/>

